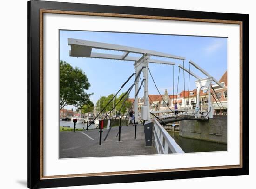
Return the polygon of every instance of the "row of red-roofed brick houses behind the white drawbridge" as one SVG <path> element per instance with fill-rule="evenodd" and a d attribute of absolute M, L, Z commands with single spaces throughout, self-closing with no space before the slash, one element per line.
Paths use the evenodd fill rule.
<path fill-rule="evenodd" d="M 223 74 L 219 80 L 222 87 L 219 85 L 212 85 L 214 88 L 202 88 L 200 90 L 200 105 L 202 111 L 207 111 L 208 108 L 208 90 L 211 91 L 212 97 L 211 101 L 214 108 L 214 114 L 227 114 L 227 101 L 228 101 L 228 80 L 227 71 Z M 193 111 L 196 105 L 196 89 L 189 91 L 181 91 L 177 95 L 169 95 L 167 90 L 165 90 L 163 95 L 148 95 L 150 103 L 150 111 L 166 110 L 168 107 L 174 109 L 175 103 L 177 103 L 178 110 L 182 111 L 185 108 Z M 164 101 L 163 101 L 164 100 Z M 133 101 L 133 99 L 130 99 Z M 138 99 L 138 112 L 141 112 L 141 107 L 144 104 L 144 99 Z"/>

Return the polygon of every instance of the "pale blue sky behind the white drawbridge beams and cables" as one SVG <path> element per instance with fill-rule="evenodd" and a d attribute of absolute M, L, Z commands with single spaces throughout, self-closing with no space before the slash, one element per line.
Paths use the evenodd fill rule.
<path fill-rule="evenodd" d="M 177 56 L 186 57 L 184 65 L 189 69 L 189 60 L 194 61 L 210 75 L 217 80 L 227 70 L 227 38 L 216 37 L 199 37 L 199 36 L 176 36 L 160 34 L 138 34 L 138 33 L 113 33 L 113 32 L 96 32 L 96 31 L 60 31 L 60 60 L 66 61 L 73 67 L 81 68 L 87 75 L 91 87 L 87 91 L 93 92 L 91 101 L 96 103 L 100 96 L 107 96 L 119 90 L 122 83 L 134 72 L 134 62 L 119 61 L 95 58 L 77 58 L 70 57 L 70 46 L 67 44 L 67 38 L 83 39 L 103 43 L 120 44 L 136 48 L 155 50 Z M 98 50 L 97 52 L 104 52 Z M 105 52 L 109 53 L 109 52 Z M 111 53 L 122 54 L 122 52 Z M 162 58 L 163 60 L 167 60 Z M 164 64 L 149 63 L 149 69 L 161 93 L 167 89 L 168 94 L 176 94 L 178 80 L 178 64 L 183 64 L 182 60 L 168 59 L 175 62 L 175 86 L 173 87 L 173 66 Z M 199 70 L 191 65 L 191 71 L 205 78 Z M 141 78 L 143 74 L 141 74 Z M 190 76 L 190 85 L 188 86 L 189 74 L 185 72 L 185 90 L 194 89 L 195 78 Z M 134 79 L 131 79 L 121 92 L 128 89 Z M 149 94 L 158 94 L 154 83 L 149 76 Z M 178 92 L 184 89 L 183 70 L 180 71 Z M 121 94 L 121 93 L 120 93 Z M 143 96 L 143 88 L 139 94 Z M 131 98 L 134 97 L 134 91 L 131 92 Z M 65 108 L 71 108 L 67 106 Z M 74 108 L 74 107 L 73 107 Z M 75 109 L 75 108 L 74 108 Z"/>

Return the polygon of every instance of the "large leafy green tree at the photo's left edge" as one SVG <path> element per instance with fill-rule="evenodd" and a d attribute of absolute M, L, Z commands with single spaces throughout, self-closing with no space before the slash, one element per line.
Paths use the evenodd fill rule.
<path fill-rule="evenodd" d="M 73 68 L 69 63 L 60 61 L 60 109 L 66 105 L 82 107 L 87 104 L 90 101 L 90 95 L 93 94 L 85 92 L 90 86 L 82 69 Z"/>

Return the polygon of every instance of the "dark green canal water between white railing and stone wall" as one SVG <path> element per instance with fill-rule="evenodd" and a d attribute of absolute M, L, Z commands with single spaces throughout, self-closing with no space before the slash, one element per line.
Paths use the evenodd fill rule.
<path fill-rule="evenodd" d="M 227 145 L 179 136 L 179 132 L 168 132 L 185 153 L 227 151 Z"/>

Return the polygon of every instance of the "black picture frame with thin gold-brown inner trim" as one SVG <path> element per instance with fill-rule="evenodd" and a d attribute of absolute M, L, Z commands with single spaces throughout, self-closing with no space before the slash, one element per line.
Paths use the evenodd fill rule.
<path fill-rule="evenodd" d="M 43 170 L 44 14 L 84 15 L 180 22 L 237 24 L 240 27 L 240 164 L 45 176 Z M 50 1 L 28 2 L 28 187 L 47 188 L 249 174 L 249 15 L 107 6 Z M 100 164 L 100 163 L 99 163 Z"/>

